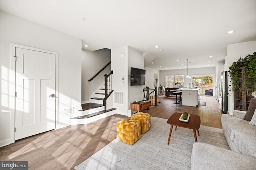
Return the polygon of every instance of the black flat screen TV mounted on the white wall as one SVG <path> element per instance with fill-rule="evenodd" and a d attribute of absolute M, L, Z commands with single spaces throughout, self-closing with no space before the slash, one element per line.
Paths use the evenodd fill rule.
<path fill-rule="evenodd" d="M 146 70 L 131 67 L 131 84 L 130 86 L 145 85 Z"/>

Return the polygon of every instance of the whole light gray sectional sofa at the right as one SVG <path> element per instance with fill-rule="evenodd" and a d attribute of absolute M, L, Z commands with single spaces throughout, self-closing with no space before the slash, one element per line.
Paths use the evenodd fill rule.
<path fill-rule="evenodd" d="M 245 114 L 246 111 L 234 110 L 233 115 L 221 117 L 222 130 L 231 150 L 194 143 L 192 170 L 256 170 L 256 126 L 243 119 Z"/>

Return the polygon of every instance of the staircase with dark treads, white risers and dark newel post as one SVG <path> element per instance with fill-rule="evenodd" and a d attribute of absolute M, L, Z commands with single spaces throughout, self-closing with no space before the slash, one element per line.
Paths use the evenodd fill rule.
<path fill-rule="evenodd" d="M 82 104 L 82 110 L 78 111 L 80 115 L 71 118 L 72 124 L 87 124 L 116 114 L 116 108 L 107 107 L 107 99 L 114 91 L 111 87 L 111 74 L 113 71 L 104 75 L 104 84 L 90 97 L 90 103 Z"/>

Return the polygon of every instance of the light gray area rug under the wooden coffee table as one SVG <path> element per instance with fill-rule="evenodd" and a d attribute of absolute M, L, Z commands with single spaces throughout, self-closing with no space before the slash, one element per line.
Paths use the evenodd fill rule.
<path fill-rule="evenodd" d="M 151 128 L 134 145 L 115 139 L 90 158 L 74 167 L 76 170 L 189 170 L 192 129 L 177 127 L 172 130 L 167 145 L 170 125 L 167 119 L 151 117 Z M 229 149 L 222 129 L 200 126 L 198 142 Z M 213 153 L 214 154 L 214 153 Z M 209 160 L 210 161 L 210 160 Z"/>

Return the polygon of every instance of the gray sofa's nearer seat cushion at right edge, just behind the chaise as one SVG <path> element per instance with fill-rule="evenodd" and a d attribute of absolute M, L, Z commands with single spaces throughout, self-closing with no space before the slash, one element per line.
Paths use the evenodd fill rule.
<path fill-rule="evenodd" d="M 234 143 L 241 153 L 256 156 L 255 134 L 236 131 Z"/>

